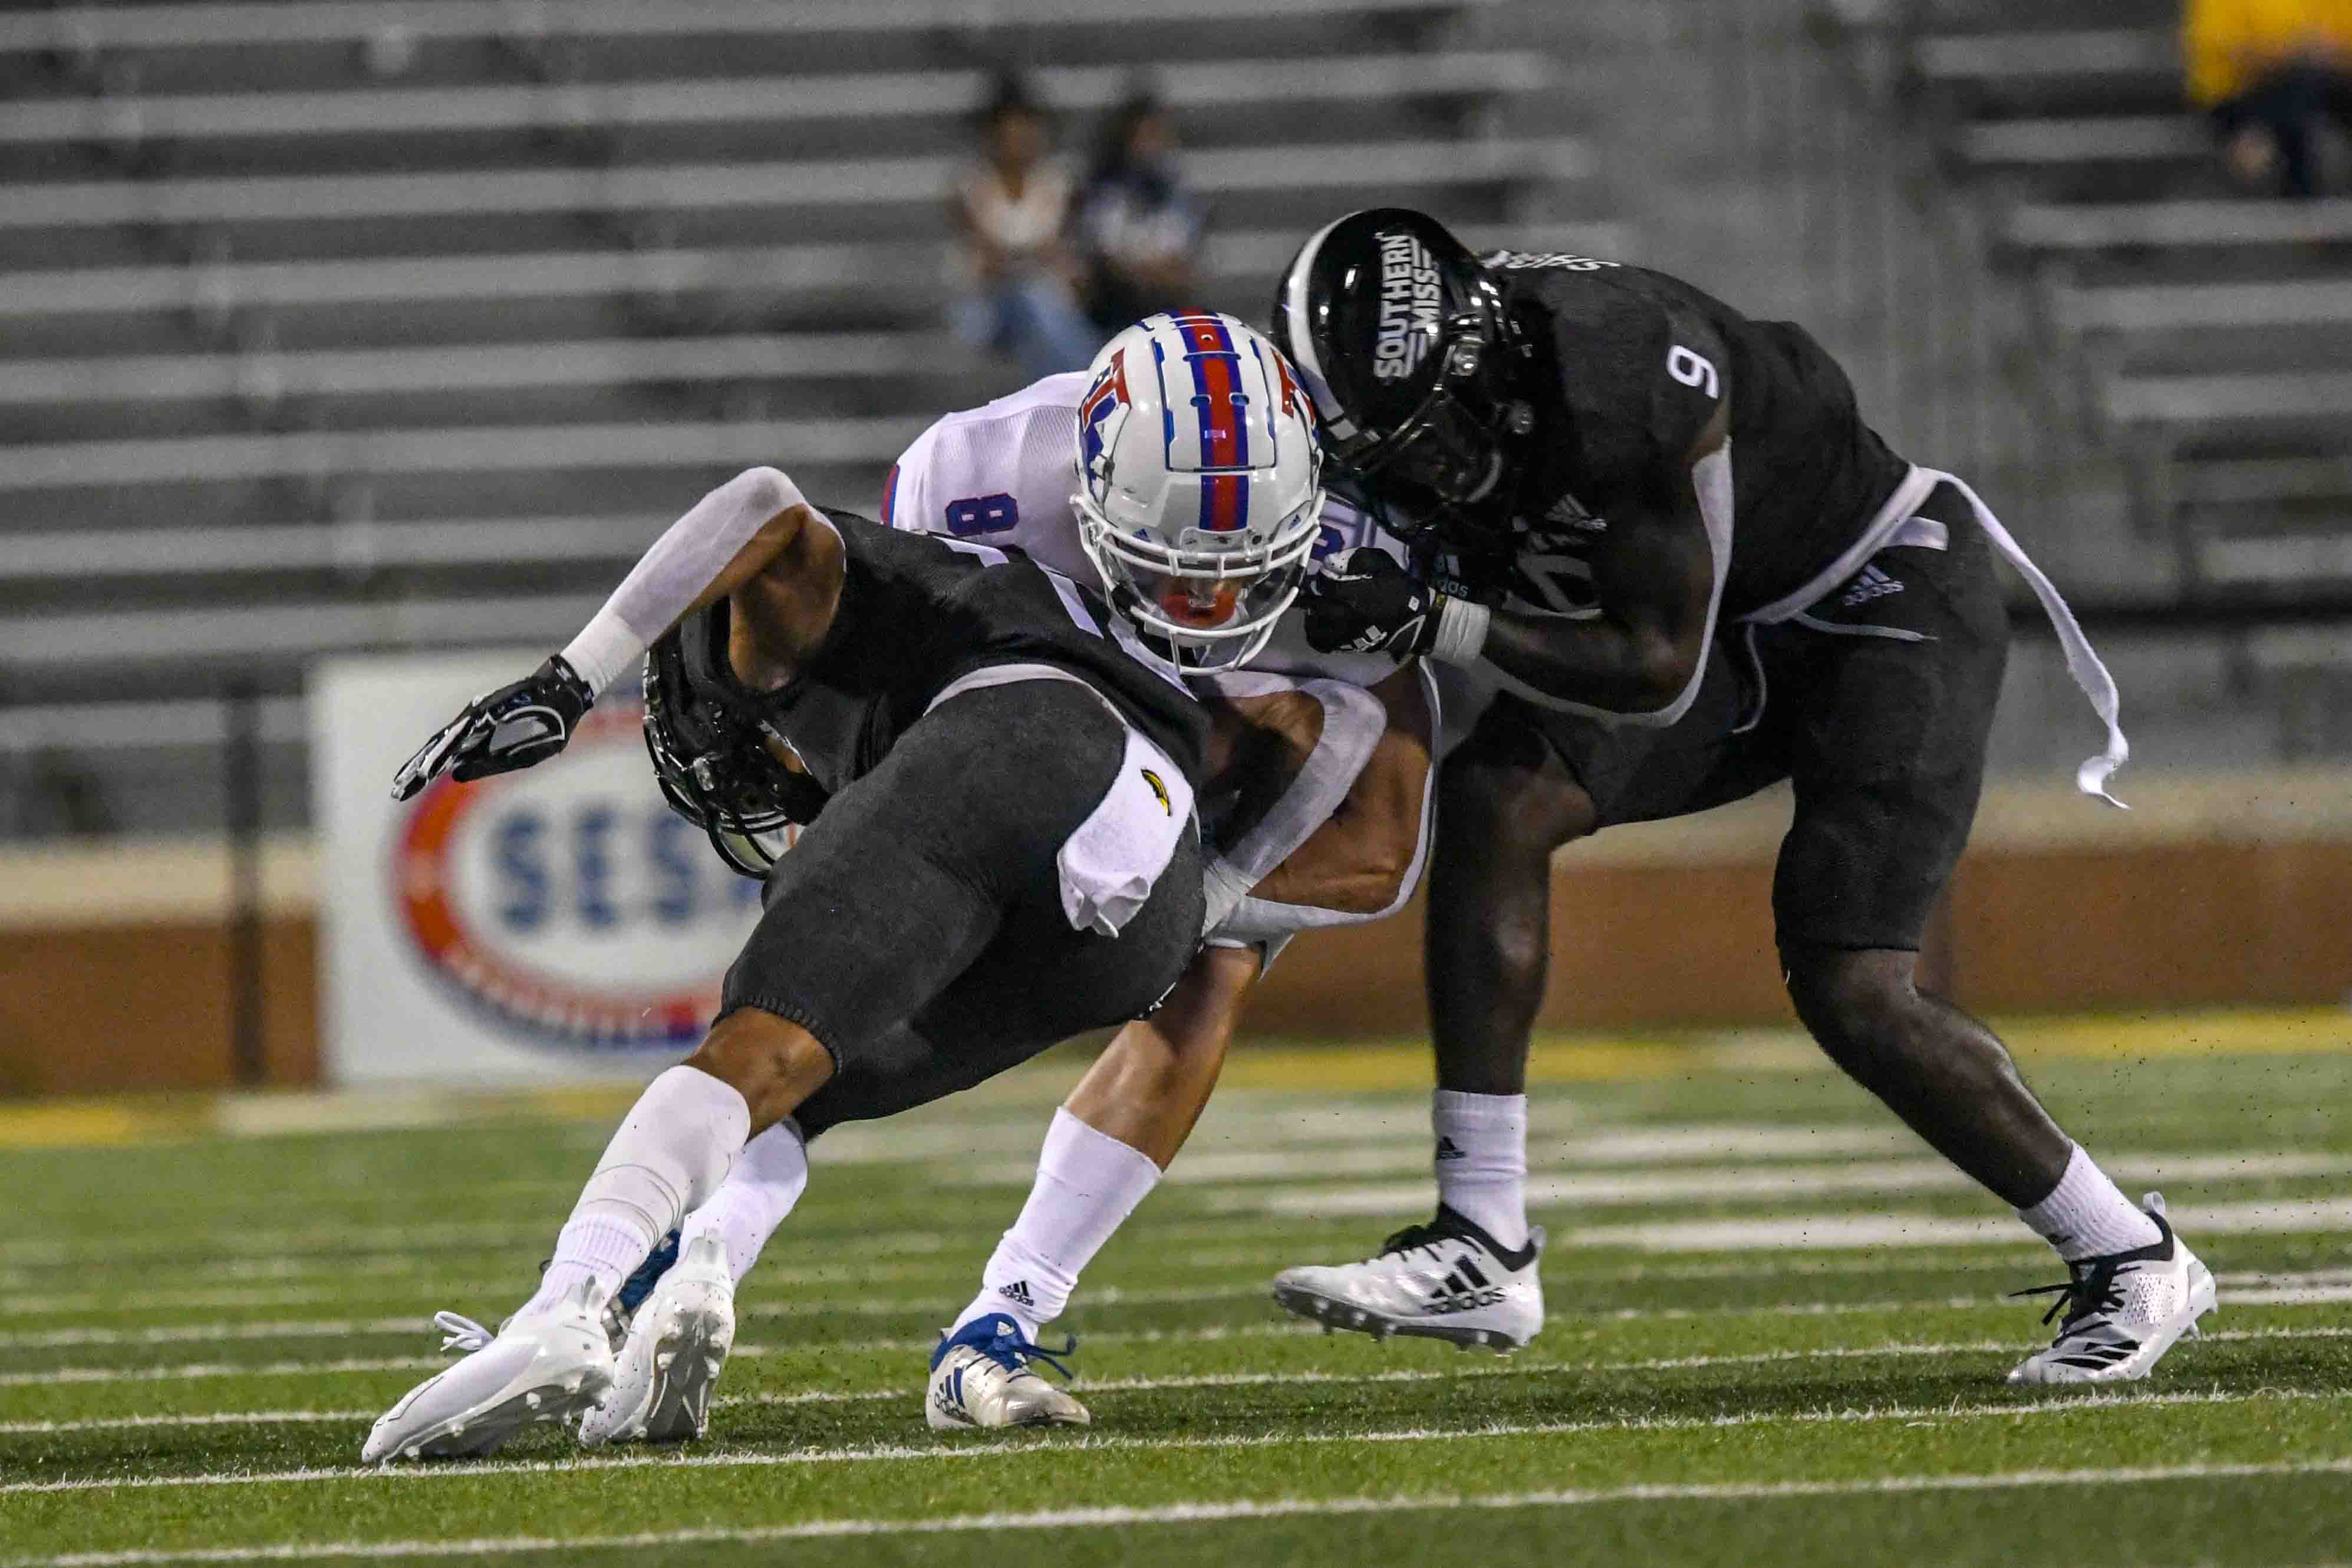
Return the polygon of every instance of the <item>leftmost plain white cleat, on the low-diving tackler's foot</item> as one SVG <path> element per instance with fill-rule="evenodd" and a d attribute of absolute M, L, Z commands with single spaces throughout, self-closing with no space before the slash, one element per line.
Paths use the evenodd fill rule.
<path fill-rule="evenodd" d="M 376 1418 L 360 1462 L 456 1460 L 494 1453 L 532 1422 L 593 1406 L 612 1387 L 604 1293 L 583 1279 L 550 1312 L 508 1319 L 496 1335 L 456 1312 L 433 1316 L 442 1349 L 470 1352 Z"/>

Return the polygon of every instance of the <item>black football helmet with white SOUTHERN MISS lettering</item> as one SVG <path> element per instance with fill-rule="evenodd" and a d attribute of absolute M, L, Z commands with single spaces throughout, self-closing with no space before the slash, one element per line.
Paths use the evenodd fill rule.
<path fill-rule="evenodd" d="M 1503 292 L 1444 223 L 1406 207 L 1350 212 L 1308 240 L 1275 292 L 1275 343 L 1322 414 L 1324 451 L 1383 522 L 1494 527 L 1512 447 L 1534 423 Z"/>

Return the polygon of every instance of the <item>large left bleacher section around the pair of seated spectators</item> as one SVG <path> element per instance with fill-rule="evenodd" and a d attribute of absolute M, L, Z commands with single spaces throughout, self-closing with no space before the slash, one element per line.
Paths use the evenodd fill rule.
<path fill-rule="evenodd" d="M 1590 158 L 1515 129 L 1545 68 L 1491 9 L 0 14 L 0 769 L 61 750 L 122 825 L 207 827 L 223 682 L 282 703 L 318 651 L 560 637 L 743 463 L 870 505 L 929 416 L 1016 381 L 941 327 L 1000 61 L 1051 61 L 1065 153 L 1152 68 L 1214 214 L 1202 303 L 1261 315 L 1367 200 L 1623 249 L 1543 223 Z"/>

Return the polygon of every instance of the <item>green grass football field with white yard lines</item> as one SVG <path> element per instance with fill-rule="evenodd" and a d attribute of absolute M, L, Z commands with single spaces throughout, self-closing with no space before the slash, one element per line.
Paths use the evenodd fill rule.
<path fill-rule="evenodd" d="M 2034 1039 L 2060 1117 L 2220 1274 L 2209 1338 L 2126 1392 L 2009 1389 L 2044 1331 L 2004 1291 L 2056 1279 L 2046 1251 L 1752 1039 L 1595 1051 L 1621 1077 L 1538 1088 L 1534 1347 L 1315 1333 L 1268 1279 L 1425 1213 L 1423 1067 L 1284 1053 L 1237 1060 L 1065 1319 L 1091 1432 L 934 1436 L 924 1354 L 1021 1201 L 1082 1060 L 1056 1056 L 818 1145 L 708 1441 L 548 1427 L 395 1472 L 358 1448 L 440 1363 L 433 1309 L 520 1300 L 609 1117 L 339 1128 L 273 1100 L 226 1117 L 242 1135 L 158 1138 L 186 1124 L 85 1112 L 68 1140 L 151 1138 L 0 1147 L 0 1563 L 2352 1559 L 2352 1051 Z M 1545 1060 L 1578 1077 L 1576 1048 Z"/>

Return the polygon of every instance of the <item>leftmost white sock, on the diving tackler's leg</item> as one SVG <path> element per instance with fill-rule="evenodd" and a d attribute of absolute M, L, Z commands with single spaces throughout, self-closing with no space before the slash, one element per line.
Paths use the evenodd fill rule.
<path fill-rule="evenodd" d="M 701 1067 L 670 1067 L 628 1107 L 595 1164 L 555 1260 L 517 1316 L 548 1312 L 583 1279 L 609 1298 L 654 1244 L 701 1206 L 750 1135 L 750 1105 Z"/>

